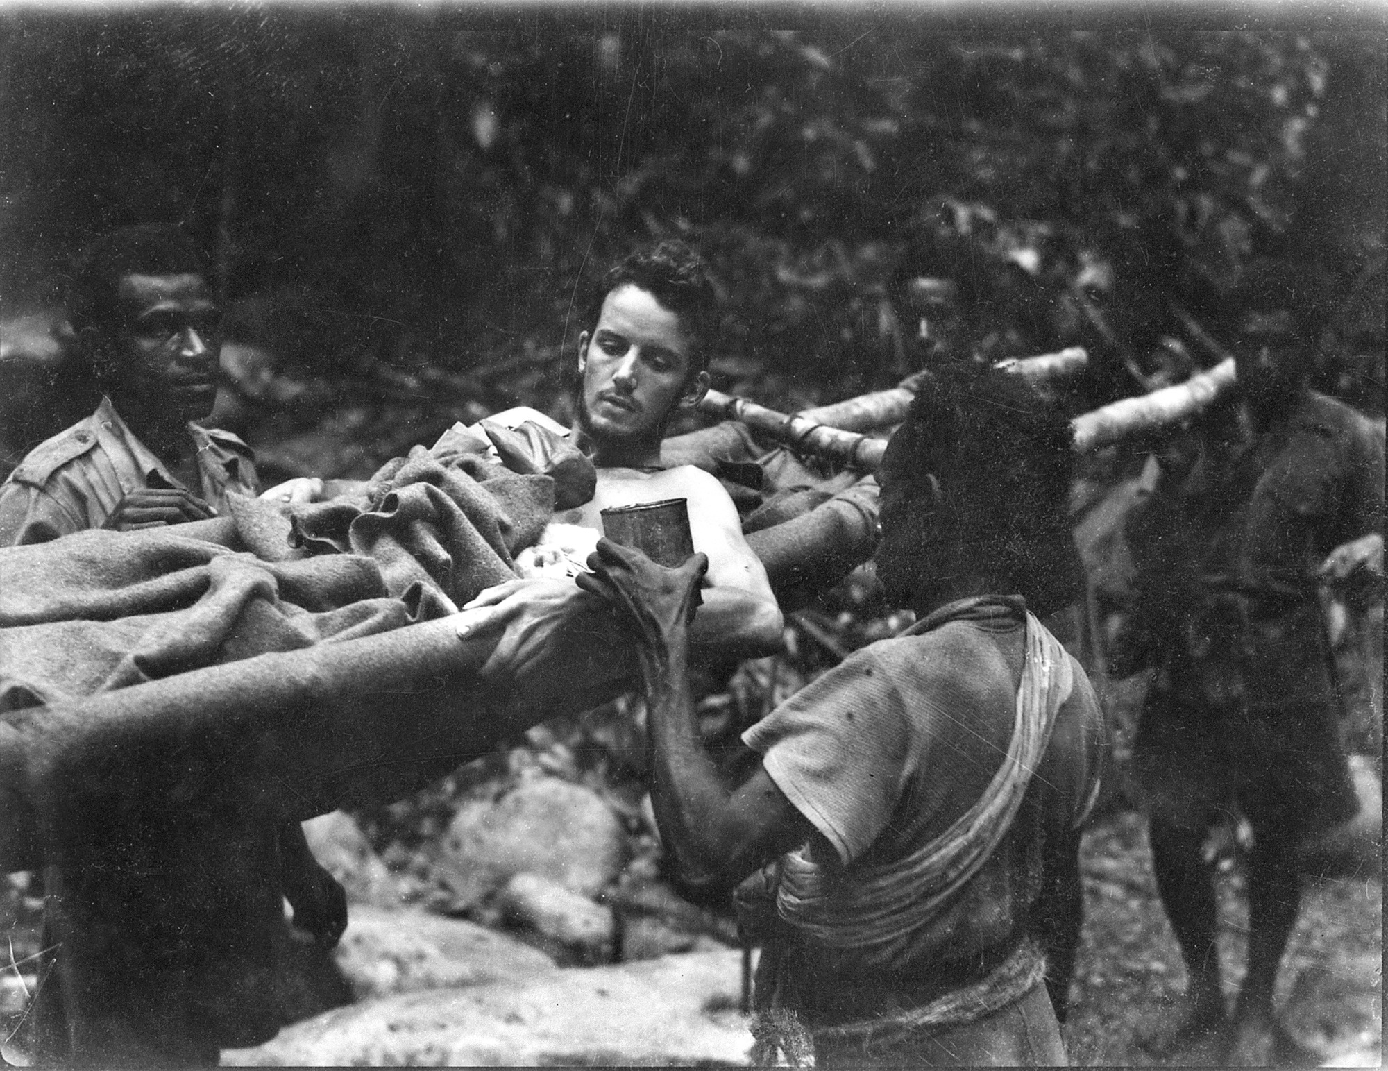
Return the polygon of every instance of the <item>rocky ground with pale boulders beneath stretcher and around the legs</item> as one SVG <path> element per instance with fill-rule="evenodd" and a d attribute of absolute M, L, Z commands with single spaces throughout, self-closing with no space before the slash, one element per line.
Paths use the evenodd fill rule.
<path fill-rule="evenodd" d="M 1109 698 L 1131 706 L 1130 695 Z M 729 702 L 743 699 L 734 687 Z M 634 767 L 622 767 L 640 753 L 623 735 L 632 724 L 632 712 L 613 709 L 582 731 L 541 728 L 414 800 L 310 823 L 315 853 L 348 891 L 351 923 L 330 960 L 305 952 L 305 1020 L 223 1063 L 745 1061 L 731 920 L 661 878 L 648 803 Z M 1127 724 L 1116 723 L 1120 776 L 1083 848 L 1085 928 L 1066 1040 L 1084 1065 L 1158 1063 L 1134 1035 L 1184 986 L 1144 820 L 1123 791 Z M 0 903 L 0 954 L 11 964 L 0 975 L 0 1036 L 39 981 L 28 959 L 39 945 L 35 892 L 11 875 Z M 1221 917 L 1233 996 L 1246 911 L 1227 853 Z M 1378 873 L 1310 884 L 1278 993 L 1307 1065 L 1378 1065 L 1381 961 Z M 1170 1063 L 1214 1059 L 1195 1049 Z"/>

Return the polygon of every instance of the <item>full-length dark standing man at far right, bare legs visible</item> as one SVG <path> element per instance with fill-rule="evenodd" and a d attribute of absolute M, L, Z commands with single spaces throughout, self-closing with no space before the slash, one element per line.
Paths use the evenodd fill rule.
<path fill-rule="evenodd" d="M 1235 297 L 1237 397 L 1194 451 L 1169 451 L 1128 522 L 1140 594 L 1124 660 L 1158 670 L 1134 766 L 1190 973 L 1185 1000 L 1145 1045 L 1165 1054 L 1221 1035 L 1220 1063 L 1262 1065 L 1288 1042 L 1273 991 L 1301 902 L 1298 846 L 1357 809 L 1317 588 L 1353 601 L 1381 584 L 1384 448 L 1364 418 L 1306 386 L 1306 279 L 1260 266 Z M 1253 831 L 1248 974 L 1233 1018 L 1203 856 L 1230 814 Z"/>

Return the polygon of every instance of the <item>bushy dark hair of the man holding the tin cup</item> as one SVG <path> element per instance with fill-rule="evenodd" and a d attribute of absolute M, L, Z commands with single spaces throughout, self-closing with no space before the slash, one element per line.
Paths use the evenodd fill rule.
<path fill-rule="evenodd" d="M 972 362 L 938 368 L 894 438 L 912 479 L 934 477 L 948 538 L 998 594 L 1022 595 L 1042 616 L 1080 597 L 1067 509 L 1074 434 L 1022 376 Z M 919 569 L 937 567 L 927 556 Z"/>

